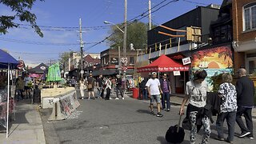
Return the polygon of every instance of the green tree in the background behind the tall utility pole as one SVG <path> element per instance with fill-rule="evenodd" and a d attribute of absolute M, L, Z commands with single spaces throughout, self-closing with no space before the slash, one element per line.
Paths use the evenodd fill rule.
<path fill-rule="evenodd" d="M 118 24 L 122 29 L 123 25 Z M 117 48 L 123 45 L 123 33 L 116 26 L 112 26 L 109 32 L 113 34 L 108 38 L 111 48 Z M 127 47 L 130 49 L 130 43 L 134 44 L 134 49 L 145 49 L 147 45 L 147 24 L 143 22 L 127 23 Z"/>

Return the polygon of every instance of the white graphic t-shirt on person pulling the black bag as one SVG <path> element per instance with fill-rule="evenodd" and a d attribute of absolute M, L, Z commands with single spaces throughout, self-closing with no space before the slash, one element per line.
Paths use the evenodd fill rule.
<path fill-rule="evenodd" d="M 197 107 L 206 106 L 207 83 L 186 82 L 186 94 L 190 95 L 190 104 Z"/>

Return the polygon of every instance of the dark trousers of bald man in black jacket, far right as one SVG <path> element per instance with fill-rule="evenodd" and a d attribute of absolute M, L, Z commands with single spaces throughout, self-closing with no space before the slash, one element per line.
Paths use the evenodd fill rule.
<path fill-rule="evenodd" d="M 238 111 L 237 111 L 237 115 L 236 115 L 236 121 L 238 123 L 238 126 L 240 127 L 242 132 L 250 132 L 251 136 L 254 136 L 253 133 L 253 120 L 251 117 L 251 110 L 252 108 L 245 108 L 242 106 L 238 106 Z M 245 124 L 242 122 L 242 115 L 245 117 L 246 119 L 246 126 Z"/>

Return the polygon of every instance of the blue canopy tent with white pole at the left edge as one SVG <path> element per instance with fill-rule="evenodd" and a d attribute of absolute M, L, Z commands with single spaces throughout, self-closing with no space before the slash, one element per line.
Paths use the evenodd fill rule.
<path fill-rule="evenodd" d="M 10 98 L 10 70 L 17 69 L 18 61 L 6 51 L 0 49 L 0 69 L 8 70 L 8 84 L 7 84 L 7 124 L 6 124 L 6 138 L 8 138 L 9 131 L 9 98 Z"/>

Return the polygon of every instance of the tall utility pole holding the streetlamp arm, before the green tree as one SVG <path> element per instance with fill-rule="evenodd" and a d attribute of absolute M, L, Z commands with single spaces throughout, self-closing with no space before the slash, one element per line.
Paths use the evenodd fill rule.
<path fill-rule="evenodd" d="M 123 33 L 123 56 L 126 58 L 126 38 L 127 38 L 127 0 L 125 0 L 125 30 Z M 124 78 L 125 78 L 125 91 L 124 94 L 126 94 L 126 71 L 123 72 Z"/>

